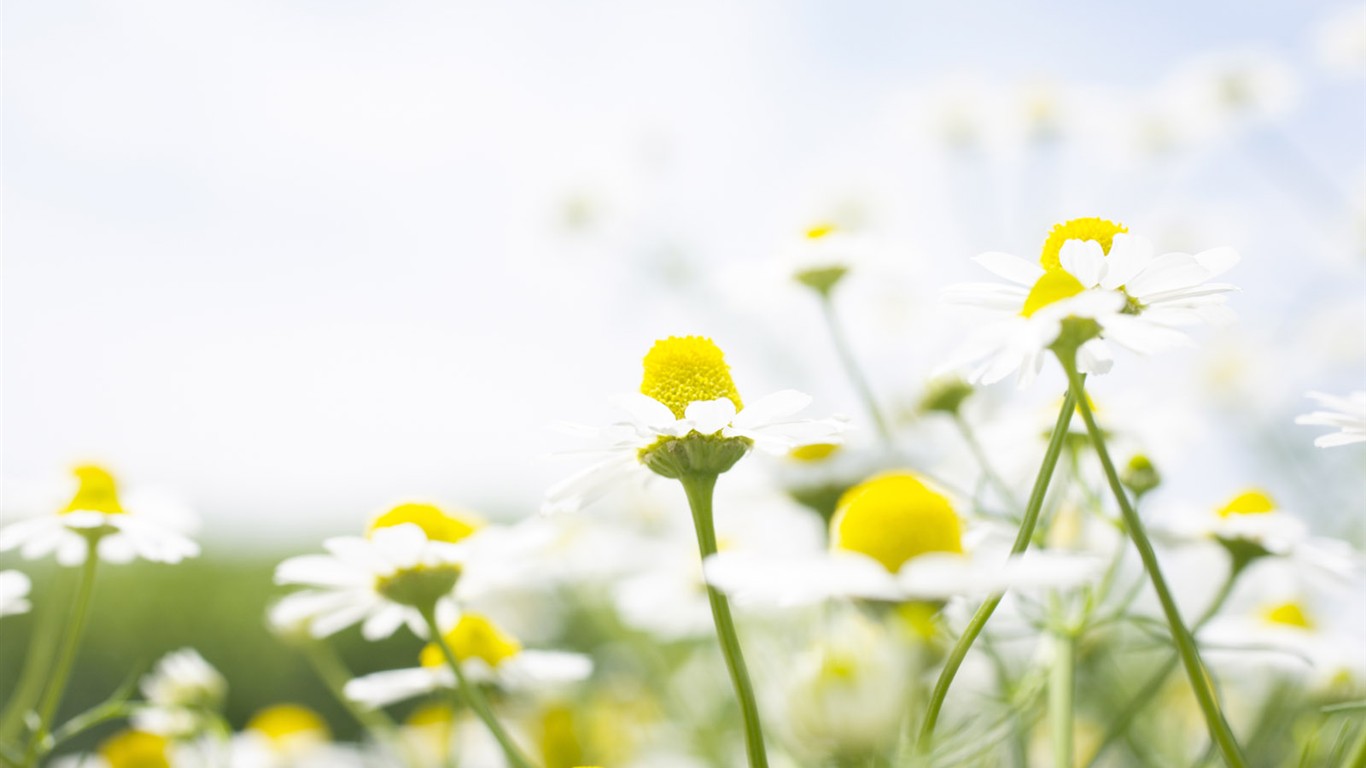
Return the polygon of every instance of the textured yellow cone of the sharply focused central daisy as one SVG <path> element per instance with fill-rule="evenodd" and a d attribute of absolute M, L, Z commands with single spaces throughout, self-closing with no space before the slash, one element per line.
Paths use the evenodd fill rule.
<path fill-rule="evenodd" d="M 731 380 L 721 348 L 706 336 L 669 336 L 654 342 L 645 355 L 641 394 L 654 398 L 683 418 L 688 403 L 729 399 L 735 410 L 744 406 Z"/>

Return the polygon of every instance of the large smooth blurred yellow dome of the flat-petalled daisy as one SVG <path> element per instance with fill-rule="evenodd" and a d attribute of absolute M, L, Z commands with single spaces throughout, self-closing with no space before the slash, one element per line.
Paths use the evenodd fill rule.
<path fill-rule="evenodd" d="M 963 523 L 948 499 L 914 474 L 892 471 L 840 496 L 831 519 L 831 547 L 859 552 L 896 573 L 928 552 L 963 552 Z"/>

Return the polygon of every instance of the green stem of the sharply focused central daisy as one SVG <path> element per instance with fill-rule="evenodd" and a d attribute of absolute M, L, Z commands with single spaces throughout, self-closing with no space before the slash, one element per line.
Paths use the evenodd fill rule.
<path fill-rule="evenodd" d="M 697 529 L 697 548 L 702 562 L 716 555 L 716 526 L 712 522 L 712 493 L 716 489 L 714 473 L 693 473 L 679 478 L 693 508 L 693 526 Z M 754 700 L 754 686 L 740 653 L 740 640 L 735 634 L 735 620 L 731 618 L 731 604 L 719 589 L 706 585 L 706 599 L 712 604 L 712 619 L 716 623 L 716 637 L 721 642 L 725 668 L 731 672 L 735 697 L 740 701 L 740 716 L 744 720 L 744 752 L 750 768 L 766 768 L 768 753 L 764 750 L 764 727 L 759 724 L 759 707 Z"/>

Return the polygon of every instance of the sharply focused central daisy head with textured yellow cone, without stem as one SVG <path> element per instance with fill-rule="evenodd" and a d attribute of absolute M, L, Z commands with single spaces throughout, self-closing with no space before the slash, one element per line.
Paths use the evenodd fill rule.
<path fill-rule="evenodd" d="M 749 406 L 731 379 L 721 350 L 702 336 L 671 336 L 645 355 L 641 394 L 619 400 L 626 420 L 602 429 L 576 428 L 596 439 L 602 459 L 546 492 L 544 511 L 576 510 L 616 484 L 649 467 L 673 477 L 698 448 L 717 471 L 734 466 L 751 447 L 784 454 L 810 443 L 836 443 L 839 420 L 805 420 L 795 414 L 811 398 L 792 389 Z M 720 466 L 724 465 L 724 466 Z"/>

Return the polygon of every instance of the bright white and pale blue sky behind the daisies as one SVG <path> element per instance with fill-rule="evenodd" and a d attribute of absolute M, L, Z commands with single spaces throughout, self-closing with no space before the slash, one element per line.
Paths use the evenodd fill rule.
<path fill-rule="evenodd" d="M 747 291 L 723 266 L 770 257 L 850 179 L 897 187 L 881 223 L 915 241 L 929 299 L 1056 219 L 1198 219 L 1201 247 L 1243 253 L 1236 306 L 1276 338 L 1321 292 L 1361 295 L 1340 212 L 1287 205 L 1228 154 L 1171 187 L 1071 167 L 1052 202 L 1003 202 L 997 176 L 949 175 L 904 105 L 953 78 L 1138 89 L 1255 44 L 1305 78 L 1292 143 L 1361 189 L 1362 81 L 1310 52 L 1335 7 L 10 1 L 4 474 L 100 459 L 247 540 L 411 495 L 522 515 L 576 466 L 545 458 L 563 444 L 544 426 L 601 421 L 649 343 L 686 332 L 716 336 L 746 391 L 855 413 L 810 359 L 811 307 L 755 321 L 723 301 Z M 575 198 L 596 224 L 567 238 Z M 964 210 L 996 224 L 948 223 Z M 851 313 L 880 387 L 943 359 Z M 1346 317 L 1336 379 L 1283 370 L 1274 407 L 1363 385 L 1363 314 Z"/>

